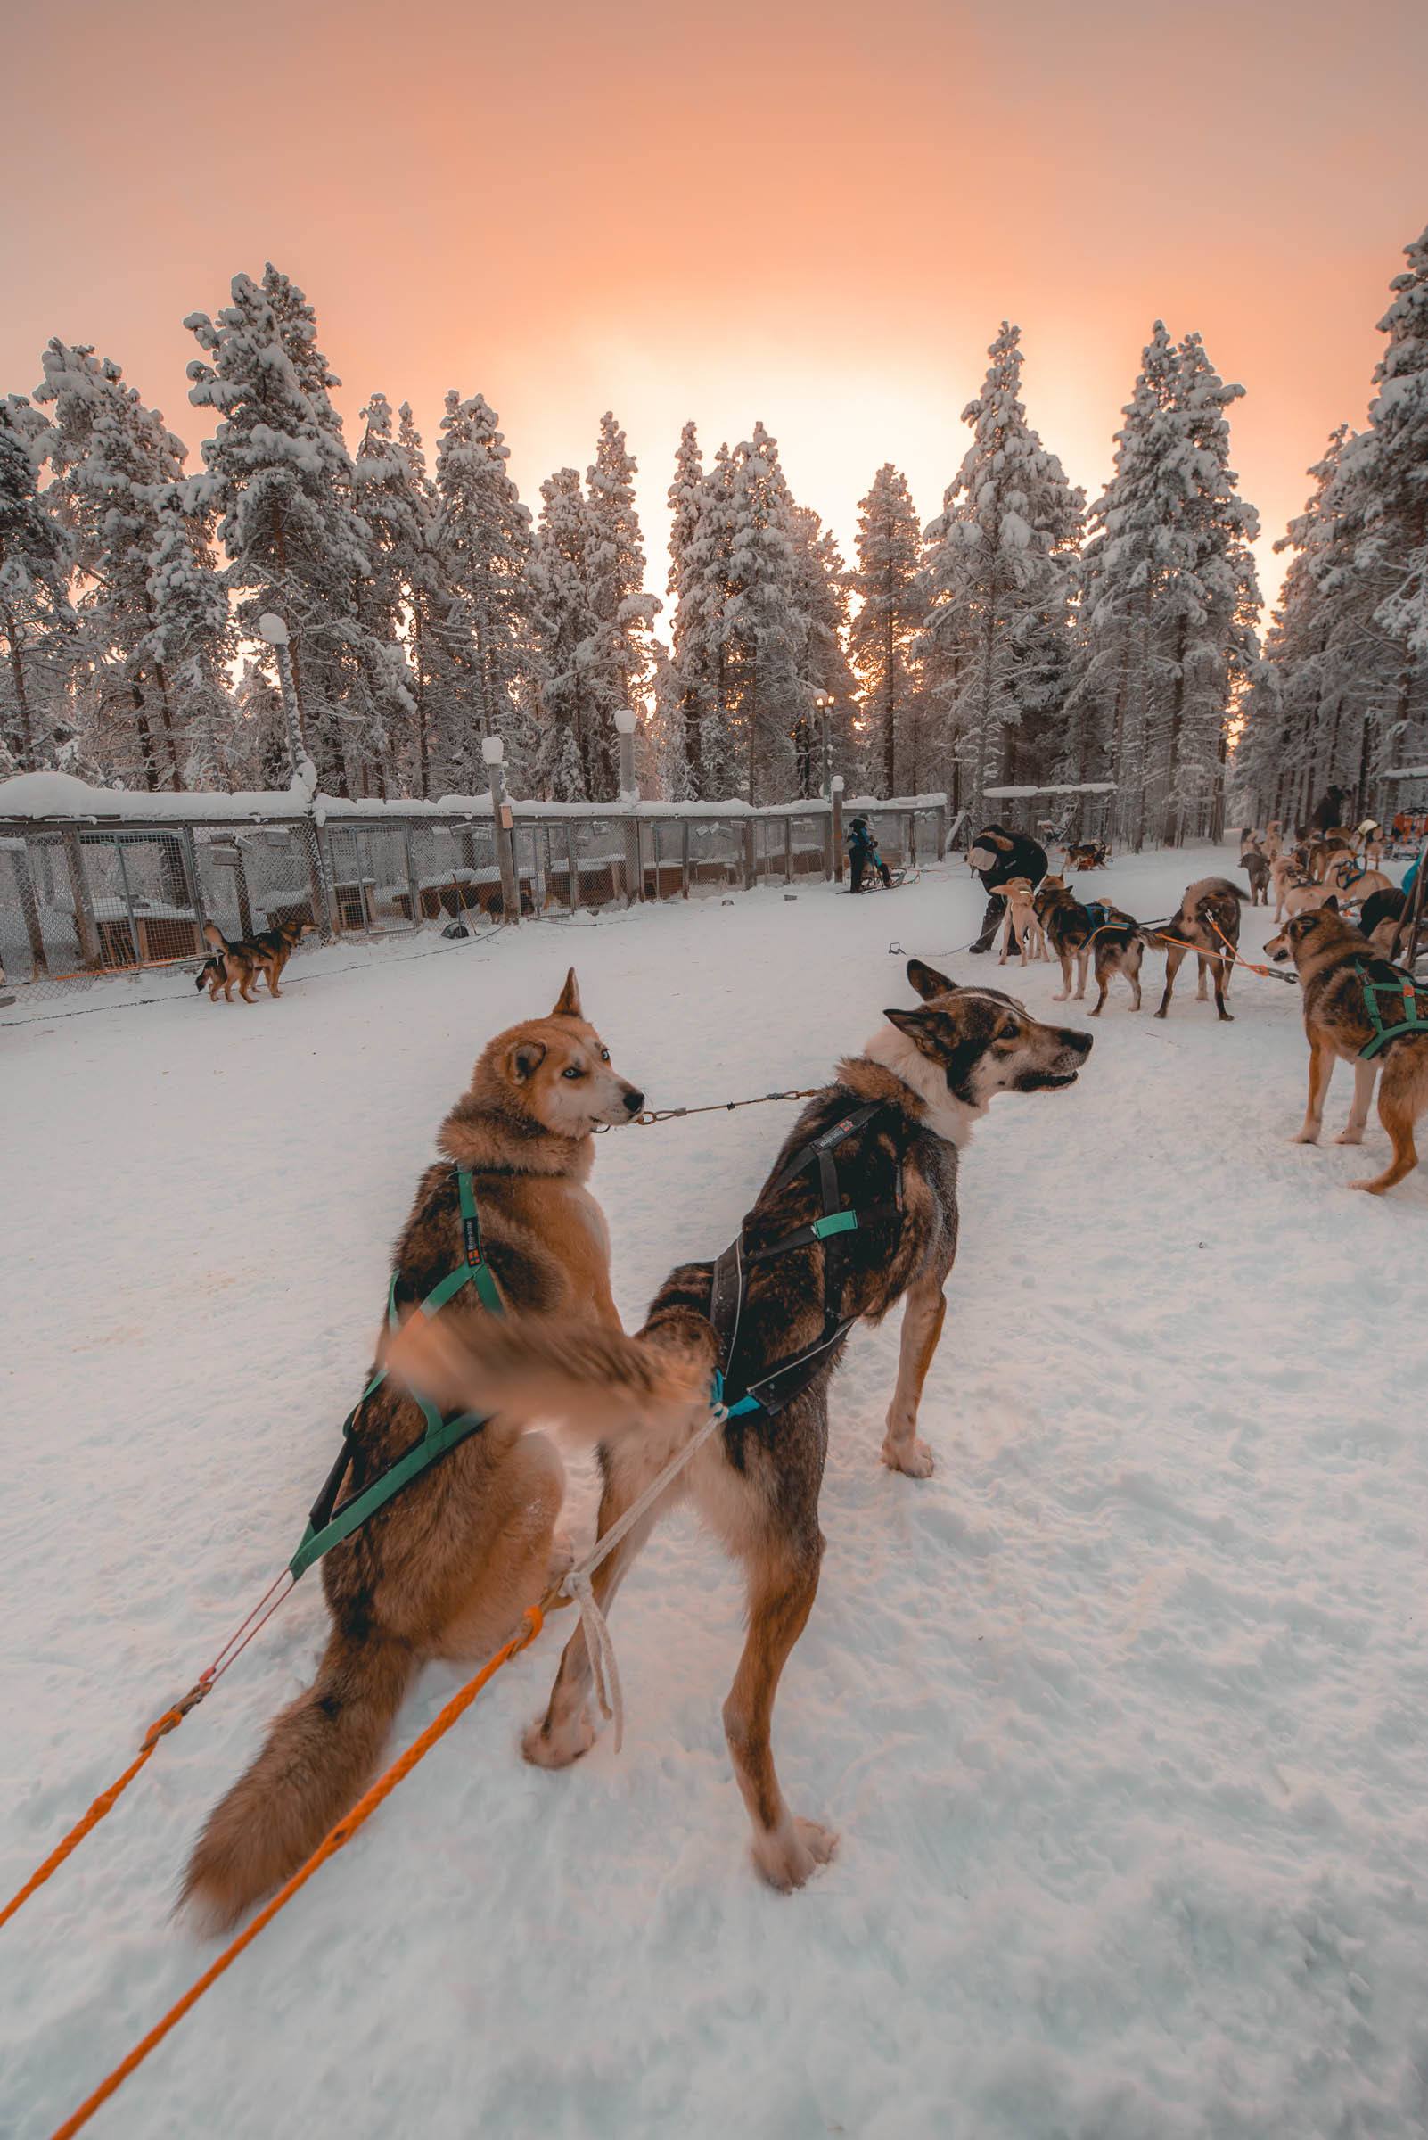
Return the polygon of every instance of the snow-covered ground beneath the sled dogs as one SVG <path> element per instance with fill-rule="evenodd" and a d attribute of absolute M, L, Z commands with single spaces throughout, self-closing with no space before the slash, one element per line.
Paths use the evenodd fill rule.
<path fill-rule="evenodd" d="M 1097 888 L 1165 914 L 1210 860 Z M 481 1042 L 575 959 L 652 1104 L 808 1085 L 911 1002 L 889 939 L 938 961 L 979 910 L 962 869 L 759 892 L 314 954 L 252 1010 L 175 987 L 0 1027 L 0 1892 L 286 1560 Z M 1054 967 L 947 963 L 1056 1014 Z M 876 1462 L 896 1320 L 834 1385 L 776 1744 L 836 1862 L 793 1898 L 750 1870 L 718 1716 L 740 1594 L 682 1517 L 614 1618 L 624 1753 L 519 1761 L 549 1631 L 96 2134 L 1428 2129 L 1428 1171 L 1372 1201 L 1345 1183 L 1377 1119 L 1366 1151 L 1289 1143 L 1289 989 L 1238 976 L 1221 1027 L 1182 976 L 1157 1025 L 1146 976 L 1073 1091 L 975 1136 L 936 1477 Z M 1340 1070 L 1330 1134 L 1347 1104 Z M 789 1119 L 601 1141 L 626 1320 L 729 1239 Z M 584 1534 L 584 1474 L 573 1509 Z M 169 1922 L 175 1875 L 321 1629 L 310 1577 L 0 1935 L 2 2131 L 51 2131 L 216 1952 Z M 428 1669 L 393 1744 L 460 1680 Z"/>

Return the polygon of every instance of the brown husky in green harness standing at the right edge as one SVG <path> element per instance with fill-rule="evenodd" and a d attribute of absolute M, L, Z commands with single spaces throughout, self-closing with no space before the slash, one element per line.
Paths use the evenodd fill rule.
<path fill-rule="evenodd" d="M 1368 937 L 1353 929 L 1332 901 L 1313 914 L 1295 914 L 1276 937 L 1270 937 L 1266 950 L 1272 959 L 1293 959 L 1304 991 L 1308 1109 L 1295 1145 L 1319 1143 L 1323 1100 L 1336 1059 L 1353 1064 L 1353 1106 L 1334 1143 L 1362 1145 L 1372 1083 L 1383 1068 L 1379 1121 L 1390 1134 L 1394 1153 L 1372 1181 L 1349 1183 L 1351 1190 L 1381 1196 L 1417 1166 L 1413 1124 L 1428 1111 L 1428 1025 L 1422 1034 L 1402 1034 L 1398 1040 L 1390 1040 L 1379 1055 L 1364 1059 L 1364 1049 L 1375 1038 L 1366 982 L 1377 982 L 1381 989 L 1377 1002 L 1385 1025 L 1402 1023 L 1409 1017 L 1415 995 L 1413 982 L 1400 967 L 1381 959 Z M 1428 1017 L 1428 1006 L 1422 1002 L 1419 1017 Z"/>

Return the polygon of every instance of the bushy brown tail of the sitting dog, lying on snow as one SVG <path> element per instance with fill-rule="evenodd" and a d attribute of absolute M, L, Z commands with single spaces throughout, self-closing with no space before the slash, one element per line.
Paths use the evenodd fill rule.
<path fill-rule="evenodd" d="M 308 1693 L 274 1718 L 252 1768 L 209 1813 L 180 1909 L 224 1930 L 297 1872 L 357 1802 L 413 1669 L 406 1644 L 331 1637 Z"/>

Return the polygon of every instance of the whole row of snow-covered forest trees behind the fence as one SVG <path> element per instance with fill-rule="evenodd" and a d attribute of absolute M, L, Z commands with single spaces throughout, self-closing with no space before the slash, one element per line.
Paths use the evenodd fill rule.
<path fill-rule="evenodd" d="M 881 467 L 844 561 L 761 424 L 684 426 L 665 599 L 635 462 L 601 417 L 581 475 L 522 503 L 481 394 L 428 454 L 372 394 L 355 445 L 312 306 L 276 268 L 192 312 L 199 462 L 118 364 L 53 340 L 0 400 L 0 777 L 60 766 L 150 790 L 276 788 L 291 766 L 257 621 L 291 633 L 319 781 L 470 794 L 500 734 L 515 794 L 605 800 L 614 713 L 671 800 L 1109 779 L 1135 845 L 1219 830 L 1227 788 L 1293 820 L 1336 777 L 1428 758 L 1428 233 L 1381 321 L 1362 432 L 1334 432 L 1285 537 L 1261 648 L 1257 516 L 1229 464 L 1227 385 L 1154 323 L 1095 503 L 1022 402 L 1003 323 L 971 443 L 919 524 Z M 661 627 L 667 625 L 667 631 Z"/>

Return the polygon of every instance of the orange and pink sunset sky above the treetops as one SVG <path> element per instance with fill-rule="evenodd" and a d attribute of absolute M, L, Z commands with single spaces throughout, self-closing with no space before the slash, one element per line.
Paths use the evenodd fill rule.
<path fill-rule="evenodd" d="M 0 389 L 94 342 L 197 443 L 188 310 L 274 259 L 355 415 L 498 409 L 526 503 L 614 407 L 663 511 L 684 417 L 761 417 L 851 548 L 883 460 L 930 518 L 1003 317 L 1095 494 L 1157 315 L 1246 385 L 1270 544 L 1428 220 L 1428 9 L 1028 0 L 68 0 L 4 39 Z"/>

